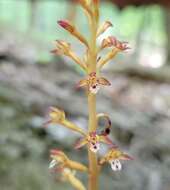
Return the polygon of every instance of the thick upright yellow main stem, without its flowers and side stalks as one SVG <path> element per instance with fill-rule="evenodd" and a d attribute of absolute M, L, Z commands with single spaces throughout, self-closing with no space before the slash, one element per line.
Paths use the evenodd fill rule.
<path fill-rule="evenodd" d="M 94 17 L 90 17 L 90 29 L 91 29 L 91 39 L 90 39 L 90 51 L 89 51 L 89 73 L 96 72 L 96 35 L 97 35 L 97 23 Z M 96 119 L 96 95 L 91 92 L 88 93 L 88 109 L 89 109 L 89 132 L 96 131 L 97 129 L 97 119 Z M 90 151 L 88 147 L 88 157 L 89 157 L 89 190 L 98 189 L 98 164 L 97 156 L 95 153 Z"/>

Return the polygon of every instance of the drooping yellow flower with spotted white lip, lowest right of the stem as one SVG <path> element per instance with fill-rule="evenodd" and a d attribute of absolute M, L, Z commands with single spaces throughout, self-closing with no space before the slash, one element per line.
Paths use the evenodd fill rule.
<path fill-rule="evenodd" d="M 113 171 L 119 171 L 122 169 L 121 160 L 133 160 L 128 154 L 120 151 L 117 148 L 112 148 L 109 152 L 99 161 L 99 164 L 105 162 L 110 163 Z"/>

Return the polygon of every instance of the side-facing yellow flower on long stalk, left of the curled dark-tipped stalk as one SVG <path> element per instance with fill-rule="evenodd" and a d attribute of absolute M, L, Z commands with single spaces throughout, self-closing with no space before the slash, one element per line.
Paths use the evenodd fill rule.
<path fill-rule="evenodd" d="M 62 126 L 70 130 L 76 131 L 82 134 L 83 136 L 86 135 L 83 129 L 79 128 L 78 126 L 76 126 L 75 124 L 66 119 L 64 111 L 55 107 L 50 107 L 48 116 L 49 119 L 47 122 L 45 122 L 44 124 L 45 126 L 48 126 L 49 124 L 61 124 Z"/>

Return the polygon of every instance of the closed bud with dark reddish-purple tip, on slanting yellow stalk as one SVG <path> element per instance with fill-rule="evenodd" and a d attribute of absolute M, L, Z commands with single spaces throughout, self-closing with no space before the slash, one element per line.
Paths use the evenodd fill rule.
<path fill-rule="evenodd" d="M 87 40 L 82 36 L 82 34 L 80 34 L 80 32 L 78 32 L 78 30 L 75 28 L 75 26 L 73 26 L 69 21 L 67 21 L 67 20 L 59 20 L 58 24 L 62 28 L 67 30 L 70 34 L 72 34 L 74 37 L 76 37 L 78 40 L 80 40 L 87 47 L 89 46 Z"/>

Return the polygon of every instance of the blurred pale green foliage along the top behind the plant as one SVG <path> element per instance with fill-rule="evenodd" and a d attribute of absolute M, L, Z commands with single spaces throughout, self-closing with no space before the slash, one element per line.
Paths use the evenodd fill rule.
<path fill-rule="evenodd" d="M 32 30 L 32 34 L 41 40 L 54 40 L 57 36 L 64 39 L 69 37 L 62 29 L 56 27 L 56 21 L 67 15 L 69 8 L 67 1 L 38 0 L 37 2 L 35 28 L 30 29 L 31 6 L 29 0 L 1 0 L 0 24 L 22 32 Z M 152 37 L 152 42 L 160 45 L 166 40 L 163 10 L 159 6 L 128 7 L 120 12 L 113 4 L 102 3 L 101 15 L 101 21 L 108 19 L 114 23 L 111 32 L 118 37 L 134 40 L 141 30 L 141 23 L 145 22 L 143 25 L 144 35 L 147 35 L 148 38 Z M 76 22 L 87 34 L 87 23 L 79 9 L 77 9 Z"/>

